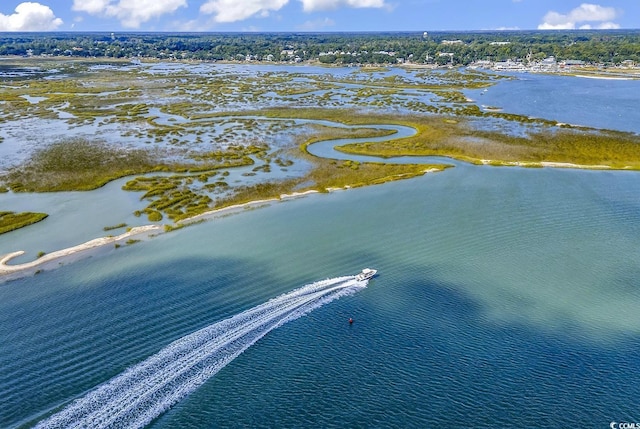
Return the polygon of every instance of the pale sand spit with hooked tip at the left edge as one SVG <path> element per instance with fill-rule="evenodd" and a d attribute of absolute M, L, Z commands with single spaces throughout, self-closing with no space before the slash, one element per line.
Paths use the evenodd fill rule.
<path fill-rule="evenodd" d="M 25 262 L 24 264 L 18 264 L 18 265 L 7 265 L 7 262 L 9 262 L 11 259 L 15 258 L 16 256 L 20 256 L 24 254 L 23 250 L 12 252 L 4 255 L 2 259 L 0 259 L 0 276 L 3 276 L 5 274 L 16 273 L 16 272 L 27 270 L 30 268 L 35 268 L 46 262 L 60 259 L 65 256 L 73 255 L 78 252 L 104 246 L 106 244 L 116 243 L 118 241 L 133 237 L 135 235 L 145 234 L 145 233 L 149 233 L 149 232 L 161 230 L 161 229 L 162 229 L 162 226 L 160 225 L 138 226 L 135 228 L 131 228 L 131 230 L 125 232 L 124 234 L 120 234 L 115 237 L 100 237 L 94 240 L 87 241 L 86 243 L 78 244 L 77 246 L 68 247 L 66 249 L 57 250 L 55 252 L 48 253 L 36 259 L 35 261 Z"/>

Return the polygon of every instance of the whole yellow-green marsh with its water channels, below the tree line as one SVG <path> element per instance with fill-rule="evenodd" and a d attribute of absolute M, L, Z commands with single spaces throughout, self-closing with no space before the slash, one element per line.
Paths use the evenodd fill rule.
<path fill-rule="evenodd" d="M 0 74 L 6 70 L 0 189 L 89 191 L 126 177 L 123 192 L 138 193 L 145 205 L 134 214 L 150 222 L 175 224 L 233 204 L 446 168 L 307 152 L 323 140 L 359 139 L 336 149 L 381 158 L 640 168 L 637 134 L 483 108 L 465 91 L 511 78 L 472 70 L 23 58 L 5 59 Z M 416 133 L 397 138 L 388 125 Z"/>

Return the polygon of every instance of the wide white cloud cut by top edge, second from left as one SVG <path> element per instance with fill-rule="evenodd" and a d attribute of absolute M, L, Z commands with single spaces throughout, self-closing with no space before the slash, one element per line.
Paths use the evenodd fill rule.
<path fill-rule="evenodd" d="M 124 27 L 139 28 L 144 22 L 186 6 L 187 0 L 73 0 L 72 9 L 117 18 Z"/>

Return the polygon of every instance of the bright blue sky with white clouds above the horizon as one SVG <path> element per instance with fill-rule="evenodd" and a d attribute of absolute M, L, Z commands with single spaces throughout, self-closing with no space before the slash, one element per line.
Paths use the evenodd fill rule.
<path fill-rule="evenodd" d="M 0 31 L 640 28 L 640 0 L 0 0 Z"/>

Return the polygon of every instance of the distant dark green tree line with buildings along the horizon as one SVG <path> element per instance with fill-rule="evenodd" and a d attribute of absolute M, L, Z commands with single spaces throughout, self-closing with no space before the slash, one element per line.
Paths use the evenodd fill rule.
<path fill-rule="evenodd" d="M 2 33 L 0 56 L 203 61 L 397 62 L 579 60 L 640 63 L 639 30 L 423 33 Z"/>

